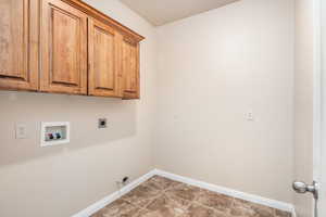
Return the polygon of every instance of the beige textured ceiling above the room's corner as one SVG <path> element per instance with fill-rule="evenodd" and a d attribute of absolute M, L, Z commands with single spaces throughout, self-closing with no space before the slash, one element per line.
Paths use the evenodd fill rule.
<path fill-rule="evenodd" d="M 239 0 L 121 0 L 155 26 L 192 16 Z"/>

